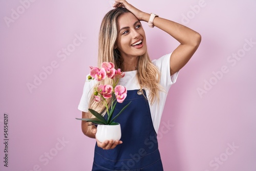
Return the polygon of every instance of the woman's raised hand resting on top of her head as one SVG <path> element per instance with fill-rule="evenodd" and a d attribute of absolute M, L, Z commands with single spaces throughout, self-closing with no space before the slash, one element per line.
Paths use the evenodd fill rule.
<path fill-rule="evenodd" d="M 139 9 L 135 8 L 131 4 L 127 3 L 125 0 L 115 0 L 115 4 L 113 5 L 114 8 L 117 7 L 123 7 L 126 8 L 127 10 L 131 11 L 136 18 L 139 20 L 143 20 L 143 16 L 145 16 L 145 13 L 140 11 Z M 145 20 L 144 20 L 145 21 Z M 145 21 L 147 22 L 147 21 Z"/>

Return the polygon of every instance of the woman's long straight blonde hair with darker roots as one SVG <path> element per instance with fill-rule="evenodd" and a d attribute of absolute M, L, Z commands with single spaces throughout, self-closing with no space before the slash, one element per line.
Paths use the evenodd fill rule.
<path fill-rule="evenodd" d="M 99 33 L 99 50 L 98 50 L 98 67 L 100 67 L 102 62 L 113 62 L 115 68 L 123 69 L 122 58 L 118 49 L 114 46 L 117 40 L 118 33 L 118 17 L 123 13 L 130 12 L 125 8 L 116 8 L 104 16 Z M 146 51 L 145 54 L 138 57 L 137 63 L 137 80 L 141 89 L 150 90 L 149 99 L 151 104 L 157 99 L 159 102 L 159 91 L 163 91 L 159 84 L 160 72 L 156 66 L 151 62 L 150 57 Z M 113 80 L 106 78 L 102 81 L 97 82 L 95 87 L 99 84 L 113 84 Z M 144 94 L 143 94 L 144 95 Z M 110 100 L 108 99 L 108 104 L 110 105 Z M 96 110 L 99 113 L 105 112 L 105 107 L 99 102 L 94 101 L 94 95 L 91 95 L 89 108 Z"/>

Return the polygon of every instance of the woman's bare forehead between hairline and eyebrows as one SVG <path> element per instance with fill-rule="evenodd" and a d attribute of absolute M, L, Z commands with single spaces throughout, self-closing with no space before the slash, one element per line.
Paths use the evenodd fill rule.
<path fill-rule="evenodd" d="M 138 19 L 131 12 L 123 13 L 118 17 L 117 20 L 118 29 L 121 29 L 123 27 L 132 27 L 137 21 Z"/>

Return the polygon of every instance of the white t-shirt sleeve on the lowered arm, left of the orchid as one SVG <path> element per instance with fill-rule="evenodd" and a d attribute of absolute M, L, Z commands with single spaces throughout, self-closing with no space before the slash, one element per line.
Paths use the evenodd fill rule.
<path fill-rule="evenodd" d="M 82 112 L 88 112 L 89 102 L 90 102 L 91 95 L 93 93 L 93 87 L 95 83 L 96 83 L 95 80 L 88 80 L 88 79 L 84 83 L 82 97 L 78 105 L 78 110 Z"/>

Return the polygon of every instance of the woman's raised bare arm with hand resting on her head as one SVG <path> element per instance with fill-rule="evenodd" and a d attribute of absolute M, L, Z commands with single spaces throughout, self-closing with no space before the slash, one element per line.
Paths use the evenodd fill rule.
<path fill-rule="evenodd" d="M 150 14 L 140 11 L 125 0 L 115 0 L 115 2 L 114 7 L 125 7 L 139 20 L 148 22 L 150 19 Z M 173 51 L 170 57 L 170 75 L 173 75 L 184 67 L 196 52 L 201 42 L 201 35 L 186 26 L 161 17 L 155 17 L 153 25 L 180 42 L 180 45 Z"/>

